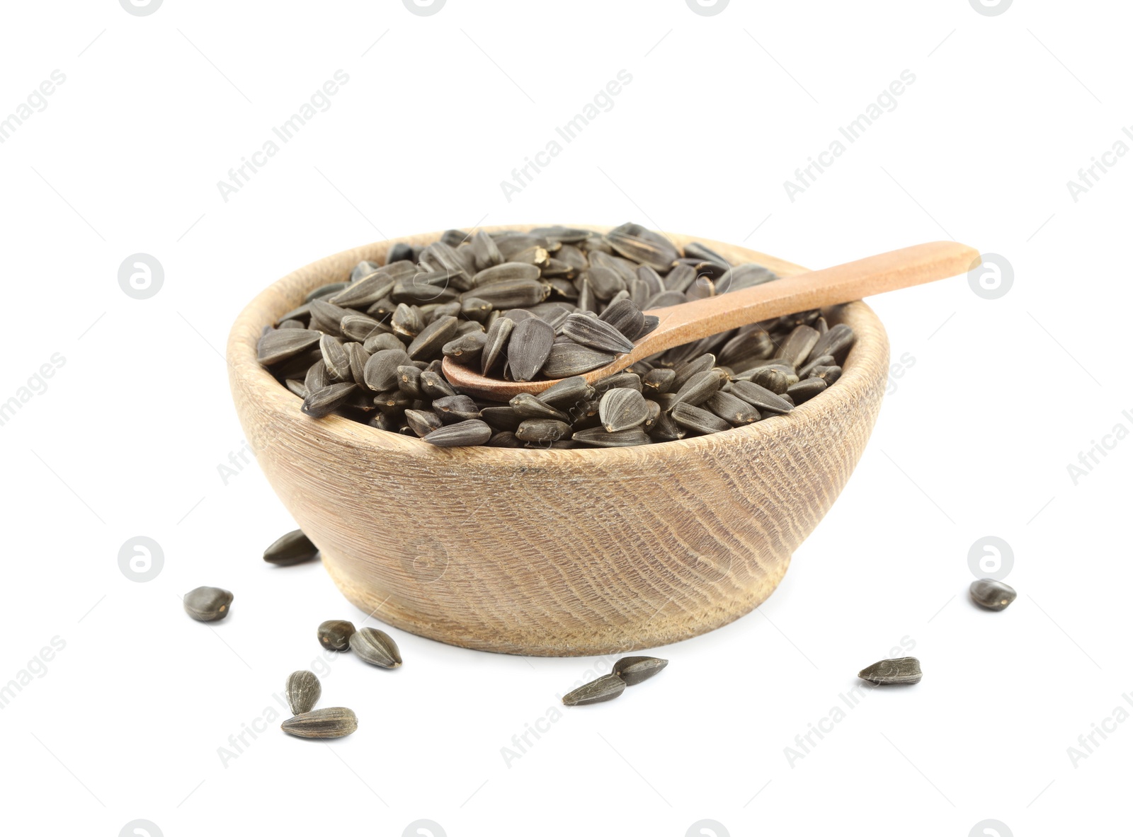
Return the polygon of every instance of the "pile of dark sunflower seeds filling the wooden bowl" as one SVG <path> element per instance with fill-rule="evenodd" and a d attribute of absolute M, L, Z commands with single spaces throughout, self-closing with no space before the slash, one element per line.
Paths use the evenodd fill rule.
<path fill-rule="evenodd" d="M 834 384 L 853 344 L 810 310 L 676 347 L 588 385 L 657 327 L 642 310 L 770 282 L 704 245 L 628 223 L 603 234 L 449 230 L 398 244 L 265 326 L 257 359 L 301 410 L 454 447 L 621 447 L 719 433 L 790 412 Z M 561 378 L 509 402 L 474 398 L 449 357 L 512 381 Z"/>

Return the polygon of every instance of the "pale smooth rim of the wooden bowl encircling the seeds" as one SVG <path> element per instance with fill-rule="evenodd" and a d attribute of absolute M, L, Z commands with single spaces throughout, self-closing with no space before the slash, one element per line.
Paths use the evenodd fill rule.
<path fill-rule="evenodd" d="M 530 230 L 552 224 L 504 224 L 499 227 L 477 227 L 472 232 L 484 230 Z M 578 224 L 582 229 L 605 232 L 612 228 L 596 224 Z M 846 322 L 854 330 L 854 344 L 842 367 L 842 375 L 836 384 L 818 396 L 794 408 L 787 416 L 770 416 L 743 427 L 729 430 L 690 436 L 670 442 L 658 442 L 648 445 L 630 447 L 573 447 L 544 449 L 533 456 L 533 450 L 527 447 L 488 447 L 486 445 L 470 447 L 437 447 L 419 438 L 382 430 L 376 427 L 355 421 L 342 416 L 326 416 L 312 419 L 299 411 L 301 400 L 259 365 L 256 360 L 256 343 L 264 325 L 274 324 L 280 315 L 295 308 L 301 297 L 327 281 L 329 271 L 346 272 L 357 262 L 369 258 L 384 261 L 385 253 L 394 244 L 425 244 L 436 241 L 442 232 L 418 233 L 391 238 L 384 241 L 363 245 L 343 250 L 300 267 L 276 280 L 262 290 L 239 313 L 229 332 L 227 359 L 229 378 L 233 398 L 239 403 L 238 391 L 244 391 L 245 398 L 257 403 L 254 410 L 271 413 L 271 418 L 282 426 L 291 427 L 299 433 L 316 435 L 329 443 L 344 444 L 353 449 L 370 450 L 382 455 L 398 454 L 401 456 L 431 459 L 437 464 L 446 466 L 467 463 L 475 467 L 502 466 L 509 469 L 516 467 L 561 467 L 587 463 L 600 459 L 604 464 L 616 467 L 619 463 L 641 462 L 649 459 L 668 459 L 681 454 L 697 455 L 710 452 L 722 446 L 749 443 L 758 444 L 774 439 L 784 432 L 790 432 L 799 421 L 821 420 L 841 409 L 852 409 L 860 401 L 860 395 L 875 385 L 874 376 L 868 371 L 870 360 L 884 358 L 888 353 L 888 339 L 885 327 L 877 314 L 864 302 L 855 301 L 842 306 L 823 309 L 824 315 L 836 322 Z M 472 234 L 469 232 L 469 234 Z M 679 246 L 698 241 L 721 251 L 733 261 L 733 254 L 772 267 L 784 276 L 808 271 L 796 264 L 785 262 L 775 256 L 750 250 L 736 245 L 729 245 L 701 236 L 682 233 L 663 233 Z M 337 275 L 342 275 L 338 273 Z M 330 281 L 335 281 L 331 279 Z M 290 304 L 289 301 L 290 300 Z M 301 422 L 301 424 L 300 424 Z"/>

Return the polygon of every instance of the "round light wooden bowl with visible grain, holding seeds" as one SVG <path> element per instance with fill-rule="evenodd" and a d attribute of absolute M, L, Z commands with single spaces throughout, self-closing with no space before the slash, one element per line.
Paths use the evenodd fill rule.
<path fill-rule="evenodd" d="M 804 270 L 696 240 L 733 263 Z M 877 418 L 888 341 L 868 306 L 827 311 L 857 342 L 838 382 L 787 416 L 639 447 L 434 447 L 338 416 L 310 419 L 256 362 L 264 325 L 359 261 L 384 262 L 392 244 L 284 276 L 240 313 L 228 341 L 248 443 L 351 603 L 442 642 L 572 656 L 696 637 L 770 595 Z"/>

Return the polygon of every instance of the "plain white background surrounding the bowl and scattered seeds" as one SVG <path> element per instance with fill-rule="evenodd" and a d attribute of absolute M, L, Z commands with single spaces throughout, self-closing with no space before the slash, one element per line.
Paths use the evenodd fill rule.
<path fill-rule="evenodd" d="M 1076 766 L 1067 748 L 1133 711 L 1133 442 L 1076 485 L 1067 466 L 1133 429 L 1133 155 L 1077 202 L 1066 181 L 1133 126 L 1128 25 L 1123 3 L 1053 0 L 999 16 L 966 0 L 733 0 L 715 16 L 449 0 L 431 17 L 398 0 L 7 3 L 0 118 L 53 70 L 66 82 L 0 145 L 0 401 L 65 364 L 0 427 L 0 683 L 51 638 L 66 647 L 0 710 L 5 831 L 1113 832 L 1133 724 Z M 332 106 L 225 202 L 216 182 L 339 69 Z M 621 69 L 614 106 L 509 202 L 500 182 Z M 896 109 L 792 202 L 784 180 L 905 69 Z M 238 310 L 365 241 L 627 220 L 815 267 L 955 238 L 1006 257 L 1014 284 L 872 301 L 894 361 L 913 362 L 853 478 L 773 597 L 657 649 L 657 678 L 564 710 L 509 765 L 501 749 L 596 661 L 391 629 L 400 671 L 347 655 L 323 678 L 322 706 L 357 711 L 353 736 L 300 741 L 276 719 L 222 762 L 317 658 L 315 626 L 364 617 L 318 564 L 265 565 L 291 520 L 254 463 L 218 472 L 244 445 L 220 357 Z M 135 253 L 164 267 L 151 299 L 118 285 Z M 139 535 L 164 554 L 146 583 L 118 566 Z M 1020 597 L 999 614 L 966 598 L 988 535 L 1014 553 Z M 184 614 L 199 584 L 236 593 L 230 618 Z M 870 692 L 789 763 L 903 638 L 925 680 Z"/>

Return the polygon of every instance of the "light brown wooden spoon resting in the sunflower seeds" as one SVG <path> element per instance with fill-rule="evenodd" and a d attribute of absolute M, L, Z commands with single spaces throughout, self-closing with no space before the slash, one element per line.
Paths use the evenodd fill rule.
<path fill-rule="evenodd" d="M 741 325 L 751 325 L 784 314 L 842 305 L 875 293 L 911 288 L 966 273 L 980 263 L 978 250 L 955 241 L 932 241 L 869 256 L 821 271 L 800 273 L 718 297 L 646 311 L 661 324 L 633 344 L 633 351 L 612 364 L 586 373 L 594 383 L 632 366 L 650 355 L 691 343 Z M 499 381 L 470 367 L 444 359 L 444 376 L 463 392 L 494 401 L 508 401 L 521 392 L 538 393 L 555 381 Z"/>

